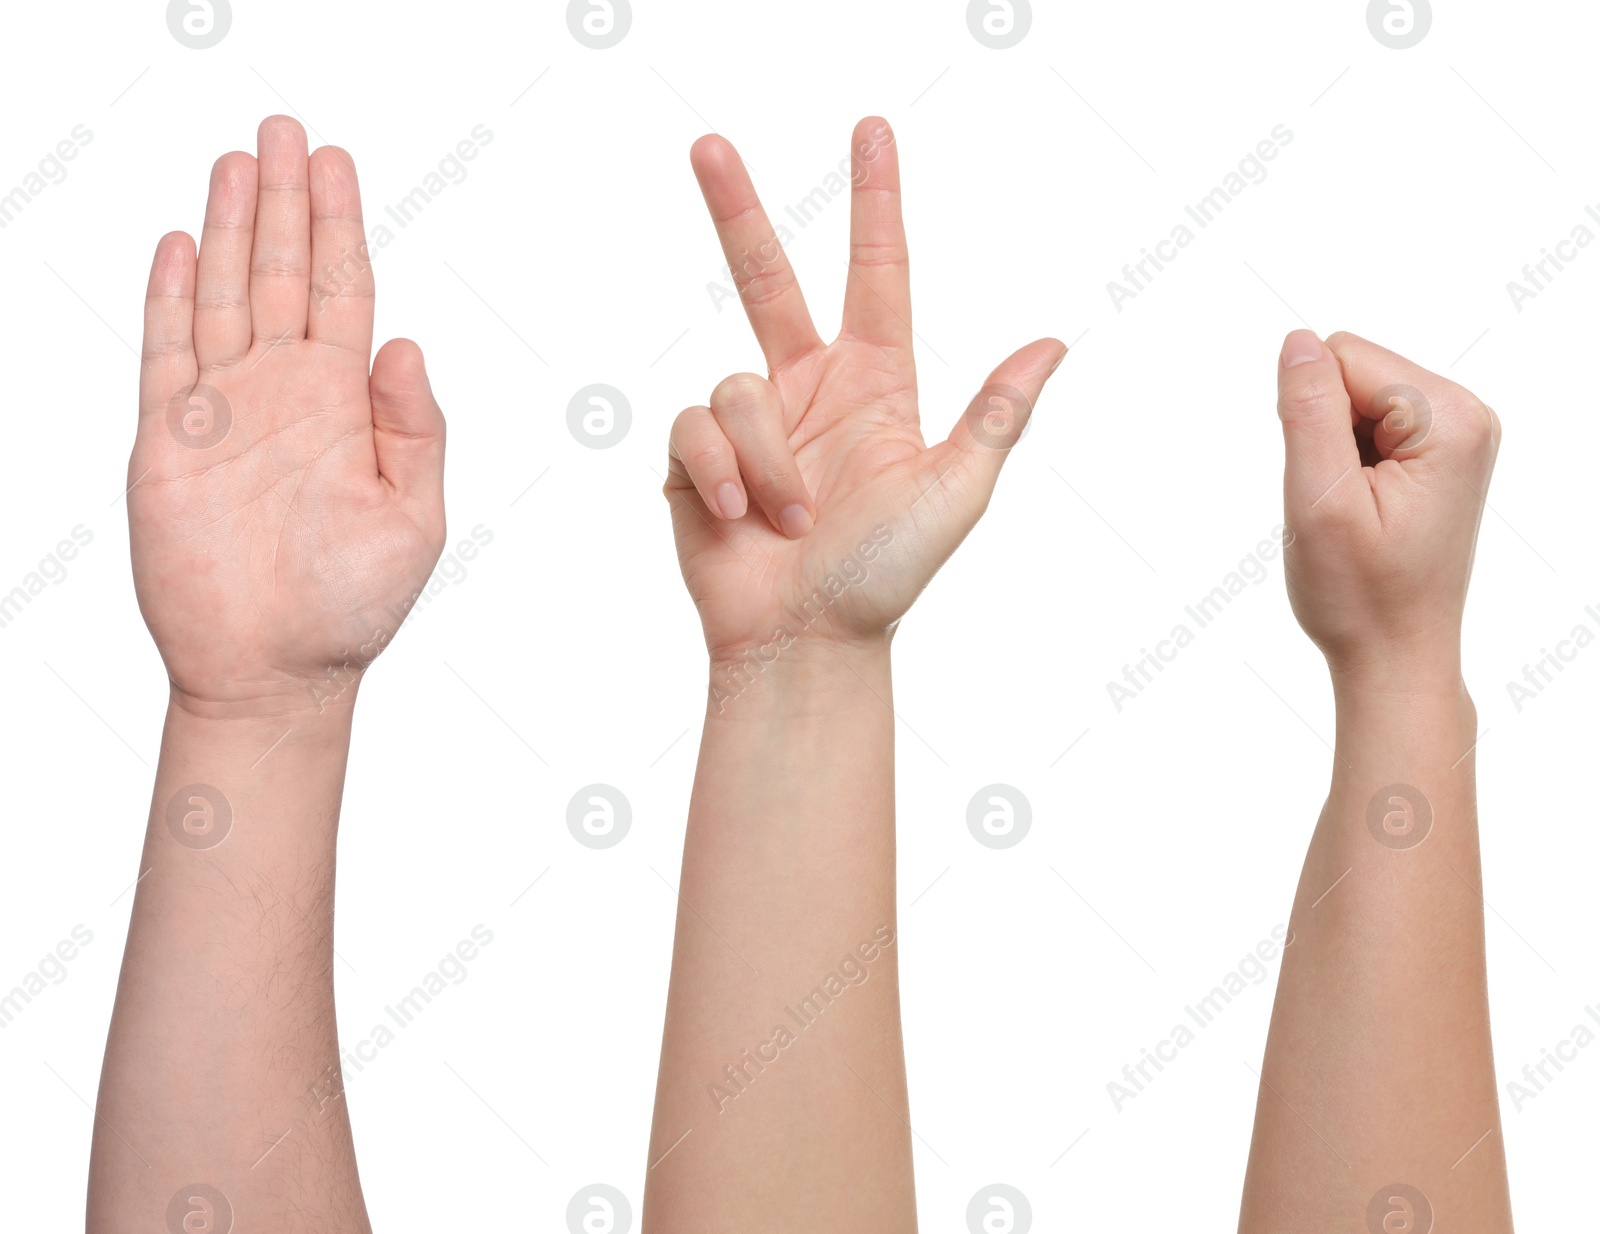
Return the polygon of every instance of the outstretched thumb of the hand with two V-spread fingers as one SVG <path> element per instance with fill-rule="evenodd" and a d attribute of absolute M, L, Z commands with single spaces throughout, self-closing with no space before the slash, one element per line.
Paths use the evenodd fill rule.
<path fill-rule="evenodd" d="M 968 528 L 989 507 L 1011 447 L 1022 439 L 1045 383 L 1066 359 L 1067 344 L 1059 339 L 1029 343 L 989 375 L 942 450 L 928 451 L 938 456 L 934 461 L 950 485 L 955 514 Z"/>

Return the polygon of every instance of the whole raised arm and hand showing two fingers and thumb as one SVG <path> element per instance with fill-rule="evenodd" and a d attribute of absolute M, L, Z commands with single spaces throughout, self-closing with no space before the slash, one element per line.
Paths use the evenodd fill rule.
<path fill-rule="evenodd" d="M 925 445 L 898 149 L 878 118 L 851 141 L 832 343 L 734 149 L 691 152 L 768 375 L 725 379 L 669 447 L 710 690 L 645 1189 L 656 1234 L 915 1229 L 890 642 L 1066 347 L 1016 352 Z"/>

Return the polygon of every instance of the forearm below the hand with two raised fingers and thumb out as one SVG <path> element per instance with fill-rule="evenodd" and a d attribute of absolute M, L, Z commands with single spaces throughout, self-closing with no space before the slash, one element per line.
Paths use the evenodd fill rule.
<path fill-rule="evenodd" d="M 886 647 L 800 648 L 706 719 L 646 1228 L 915 1228 Z"/>

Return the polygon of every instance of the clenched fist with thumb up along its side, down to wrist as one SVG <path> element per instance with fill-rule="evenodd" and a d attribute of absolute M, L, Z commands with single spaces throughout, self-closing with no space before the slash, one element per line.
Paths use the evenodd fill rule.
<path fill-rule="evenodd" d="M 1290 602 L 1336 675 L 1459 680 L 1499 418 L 1470 392 L 1355 335 L 1283 343 Z M 1443 682 L 1448 683 L 1448 682 Z"/>

